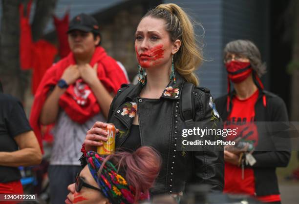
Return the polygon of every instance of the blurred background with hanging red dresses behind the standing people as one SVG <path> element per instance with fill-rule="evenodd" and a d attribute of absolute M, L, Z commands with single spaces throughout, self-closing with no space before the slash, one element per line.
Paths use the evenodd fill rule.
<path fill-rule="evenodd" d="M 68 20 L 79 13 L 96 18 L 102 46 L 124 65 L 132 81 L 137 74 L 134 33 L 139 20 L 158 4 L 176 3 L 194 20 L 203 49 L 205 61 L 197 71 L 201 86 L 208 87 L 214 98 L 224 95 L 223 48 L 232 40 L 251 40 L 267 64 L 265 88 L 286 102 L 291 121 L 299 121 L 299 0 L 33 0 L 30 12 L 29 2 L 0 4 L 0 80 L 5 93 L 23 102 L 28 116 L 43 73 L 68 52 Z M 34 46 L 28 50 L 29 42 Z M 23 57 L 33 53 L 33 59 L 21 58 L 21 52 Z M 287 168 L 278 169 L 285 204 L 299 200 L 299 173 L 294 179 L 297 154 L 293 152 Z"/>

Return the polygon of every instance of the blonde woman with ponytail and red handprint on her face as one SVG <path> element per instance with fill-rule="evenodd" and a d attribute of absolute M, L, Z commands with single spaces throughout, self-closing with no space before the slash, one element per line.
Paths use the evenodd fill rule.
<path fill-rule="evenodd" d="M 223 152 L 178 151 L 176 146 L 185 122 L 180 112 L 184 84 L 196 86 L 190 92 L 193 121 L 219 117 L 210 91 L 197 87 L 193 71 L 202 55 L 189 17 L 172 3 L 150 10 L 137 27 L 135 50 L 139 83 L 123 86 L 110 106 L 108 122 L 119 129 L 116 147 L 136 150 L 148 145 L 161 154 L 163 163 L 153 194 L 181 195 L 191 183 L 210 184 L 212 190 L 222 191 Z M 103 127 L 106 123 L 96 122 L 87 132 L 87 151 L 103 145 L 97 141 L 107 141 Z"/>

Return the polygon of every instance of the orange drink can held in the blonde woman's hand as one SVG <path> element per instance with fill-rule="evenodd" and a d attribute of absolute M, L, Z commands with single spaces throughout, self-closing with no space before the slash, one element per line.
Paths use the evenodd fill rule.
<path fill-rule="evenodd" d="M 97 147 L 97 153 L 98 154 L 113 154 L 115 151 L 115 134 L 116 134 L 116 129 L 114 124 L 112 123 L 106 123 L 107 127 L 103 128 L 104 130 L 107 131 L 107 138 L 108 140 L 105 141 L 99 141 L 102 142 L 102 146 Z"/>

